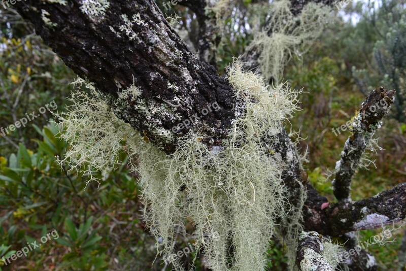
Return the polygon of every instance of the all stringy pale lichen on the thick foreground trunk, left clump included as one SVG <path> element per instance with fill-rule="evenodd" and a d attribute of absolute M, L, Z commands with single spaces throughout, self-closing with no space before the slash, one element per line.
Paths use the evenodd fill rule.
<path fill-rule="evenodd" d="M 272 144 L 297 109 L 298 92 L 285 84 L 269 87 L 241 66 L 235 62 L 227 79 L 244 101 L 245 114 L 233 122 L 222 146 L 207 146 L 198 131 L 191 131 L 179 140 L 175 153 L 166 155 L 118 119 L 88 83 L 93 94 L 74 92 L 73 105 L 57 115 L 63 123 L 61 137 L 71 143 L 61 162 L 87 173 L 90 180 L 93 171 L 121 163 L 121 151 L 138 157 L 138 165 L 129 168 L 140 173 L 144 218 L 163 258 L 174 253 L 177 235 L 185 234 L 185 224 L 192 222 L 196 251 L 206 255 L 211 269 L 265 266 L 268 242 L 287 205 L 283 165 L 271 155 Z M 140 94 L 132 85 L 118 99 L 138 99 Z M 179 260 L 172 264 L 183 270 Z"/>

